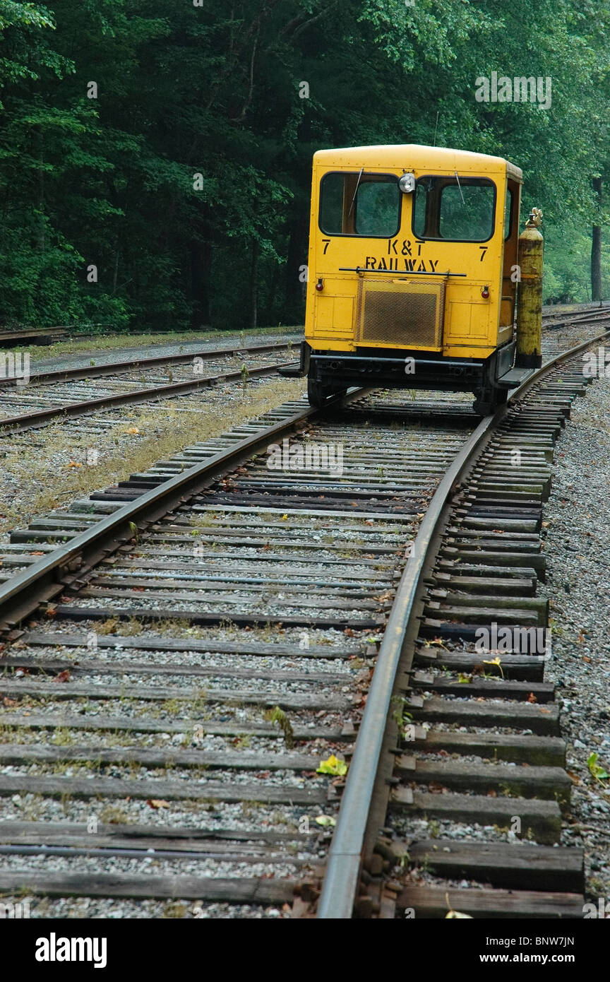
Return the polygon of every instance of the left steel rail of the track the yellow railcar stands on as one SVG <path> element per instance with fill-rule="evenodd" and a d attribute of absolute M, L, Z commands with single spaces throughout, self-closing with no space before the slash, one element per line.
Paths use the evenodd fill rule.
<path fill-rule="evenodd" d="M 200 464 L 180 472 L 155 488 L 139 495 L 107 518 L 101 518 L 63 546 L 33 563 L 27 570 L 11 576 L 0 585 L 0 630 L 14 627 L 37 609 L 40 603 L 52 600 L 77 576 L 95 566 L 101 558 L 128 542 L 140 526 L 166 515 L 216 477 L 245 463 L 261 453 L 277 438 L 285 436 L 312 416 L 326 412 L 342 402 L 353 402 L 369 389 L 350 389 L 346 395 L 334 396 L 323 410 L 306 406 L 286 419 L 266 426 L 231 447 L 219 451 Z M 138 525 L 139 522 L 139 525 Z M 72 573 L 70 579 L 67 579 Z"/>

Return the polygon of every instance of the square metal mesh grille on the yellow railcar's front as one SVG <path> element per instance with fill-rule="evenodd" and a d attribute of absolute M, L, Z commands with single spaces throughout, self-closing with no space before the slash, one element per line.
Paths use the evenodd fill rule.
<path fill-rule="evenodd" d="M 440 348 L 445 282 L 361 280 L 356 340 L 397 348 Z"/>

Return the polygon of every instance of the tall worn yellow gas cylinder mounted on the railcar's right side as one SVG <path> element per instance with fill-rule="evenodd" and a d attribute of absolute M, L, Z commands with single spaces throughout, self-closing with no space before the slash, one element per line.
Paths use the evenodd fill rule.
<path fill-rule="evenodd" d="M 542 253 L 544 240 L 539 231 L 542 212 L 533 208 L 519 236 L 521 279 L 517 298 L 517 355 L 515 366 L 539 368 L 542 363 Z"/>

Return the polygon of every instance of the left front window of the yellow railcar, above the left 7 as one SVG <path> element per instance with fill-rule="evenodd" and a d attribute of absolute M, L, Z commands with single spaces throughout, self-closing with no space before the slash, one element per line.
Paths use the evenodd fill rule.
<path fill-rule="evenodd" d="M 400 203 L 393 175 L 325 174 L 320 186 L 320 228 L 330 236 L 390 239 L 400 225 Z"/>

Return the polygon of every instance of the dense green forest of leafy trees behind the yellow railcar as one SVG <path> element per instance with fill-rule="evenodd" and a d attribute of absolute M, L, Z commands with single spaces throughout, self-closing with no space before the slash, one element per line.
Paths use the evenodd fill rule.
<path fill-rule="evenodd" d="M 0 322 L 303 320 L 311 157 L 499 154 L 545 296 L 610 296 L 608 0 L 0 0 Z M 480 101 L 492 73 L 550 104 Z"/>

